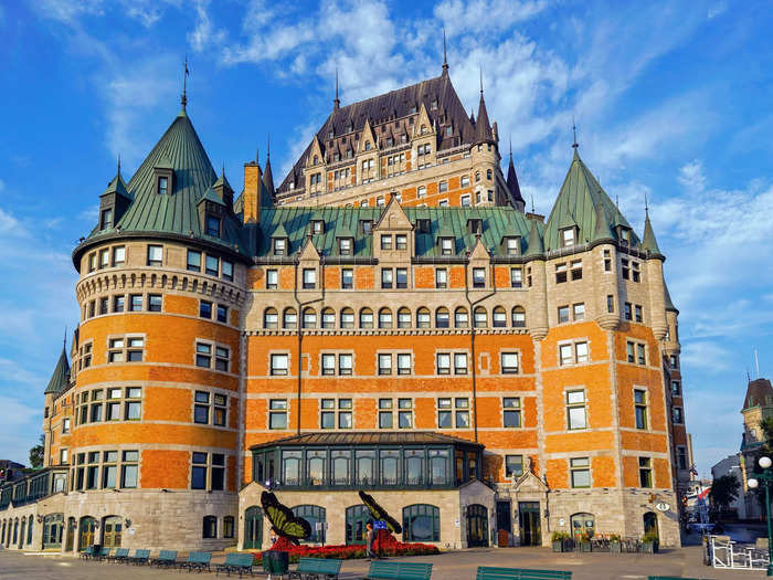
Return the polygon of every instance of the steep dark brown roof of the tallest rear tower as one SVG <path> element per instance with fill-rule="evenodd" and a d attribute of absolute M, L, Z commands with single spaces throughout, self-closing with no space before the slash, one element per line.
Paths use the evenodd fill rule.
<path fill-rule="evenodd" d="M 436 107 L 432 106 L 433 102 L 436 102 Z M 347 149 L 356 149 L 354 135 L 358 135 L 364 128 L 366 122 L 370 120 L 371 125 L 378 127 L 386 124 L 389 127 L 384 126 L 384 129 L 389 128 L 390 134 L 395 131 L 400 134 L 409 127 L 404 120 L 407 117 L 417 115 L 422 104 L 426 107 L 433 125 L 441 115 L 444 115 L 446 119 L 444 123 L 452 126 L 451 136 L 446 136 L 445 131 L 443 131 L 443 135 L 438 137 L 441 139 L 437 145 L 438 150 L 456 147 L 463 143 L 474 143 L 475 127 L 467 117 L 467 113 L 447 74 L 441 74 L 441 76 L 398 88 L 396 91 L 390 91 L 389 93 L 343 107 L 333 108 L 330 116 L 317 131 L 316 137 L 324 144 L 326 152 L 330 152 L 330 150 L 346 151 Z M 399 127 L 395 128 L 394 123 L 398 123 Z M 329 139 L 330 131 L 333 134 L 332 140 Z M 309 155 L 310 147 L 311 145 L 309 144 L 293 166 L 293 169 L 282 181 L 282 184 L 276 188 L 277 191 L 288 190 L 290 183 L 295 183 L 296 187 L 301 183 L 303 169 L 306 166 L 306 158 Z"/>

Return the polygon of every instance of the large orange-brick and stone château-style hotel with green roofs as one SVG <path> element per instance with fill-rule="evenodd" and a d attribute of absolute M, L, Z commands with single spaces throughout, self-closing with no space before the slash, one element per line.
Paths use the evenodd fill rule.
<path fill-rule="evenodd" d="M 363 541 L 367 489 L 441 547 L 678 545 L 678 310 L 649 218 L 639 236 L 576 147 L 547 220 L 525 213 L 499 137 L 444 65 L 336 98 L 277 188 L 251 161 L 234 199 L 183 98 L 73 252 L 81 323 L 45 467 L 0 488 L 2 545 L 265 548 L 265 488 L 328 524 L 315 542 Z"/>

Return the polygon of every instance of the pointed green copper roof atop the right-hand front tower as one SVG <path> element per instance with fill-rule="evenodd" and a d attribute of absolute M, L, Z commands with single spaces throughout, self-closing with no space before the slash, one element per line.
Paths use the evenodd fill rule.
<path fill-rule="evenodd" d="M 602 212 L 597 212 L 596 208 L 601 205 Z M 596 220 L 600 214 L 604 215 L 607 221 L 607 226 L 596 226 Z M 633 229 L 628 222 L 620 213 L 615 204 L 606 194 L 604 189 L 599 184 L 599 181 L 593 177 L 591 171 L 582 162 L 576 149 L 574 149 L 574 158 L 572 165 L 566 172 L 566 177 L 561 186 L 553 210 L 550 212 L 548 223 L 544 229 L 544 246 L 548 250 L 557 250 L 561 246 L 560 231 L 563 228 L 576 225 L 578 243 L 591 242 L 597 235 L 597 231 L 603 231 L 602 235 L 606 235 L 606 230 L 613 234 L 613 240 L 617 239 L 613 228 L 623 225 L 632 230 L 632 244 L 637 245 L 638 239 L 633 233 Z"/>

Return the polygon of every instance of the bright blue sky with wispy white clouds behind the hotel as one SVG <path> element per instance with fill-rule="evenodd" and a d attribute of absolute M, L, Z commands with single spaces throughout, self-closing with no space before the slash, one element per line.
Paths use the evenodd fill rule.
<path fill-rule="evenodd" d="M 70 254 L 123 159 L 179 109 L 241 190 L 272 136 L 277 181 L 332 106 L 437 75 L 477 106 L 548 213 L 580 154 L 642 231 L 680 309 L 701 475 L 738 449 L 745 372 L 773 375 L 773 50 L 766 2 L 35 0 L 0 3 L 0 457 L 27 461 L 66 326 Z M 739 8 L 742 8 L 739 10 Z M 504 151 L 506 152 L 506 151 Z"/>

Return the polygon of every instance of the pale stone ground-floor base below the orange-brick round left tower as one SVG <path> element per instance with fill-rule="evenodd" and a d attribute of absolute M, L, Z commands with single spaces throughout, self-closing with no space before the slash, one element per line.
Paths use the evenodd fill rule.
<path fill-rule="evenodd" d="M 34 504 L 9 506 L 0 512 L 8 549 L 77 552 L 92 544 L 121 548 L 222 550 L 236 545 L 237 497 L 227 492 L 121 489 L 55 494 Z M 21 541 L 21 524 L 30 521 Z M 204 538 L 207 529 L 214 537 Z M 213 519 L 212 519 L 213 518 Z M 230 520 L 227 518 L 231 518 Z M 10 536 L 9 536 L 10 529 Z M 29 539 L 29 541 L 28 541 Z"/>

